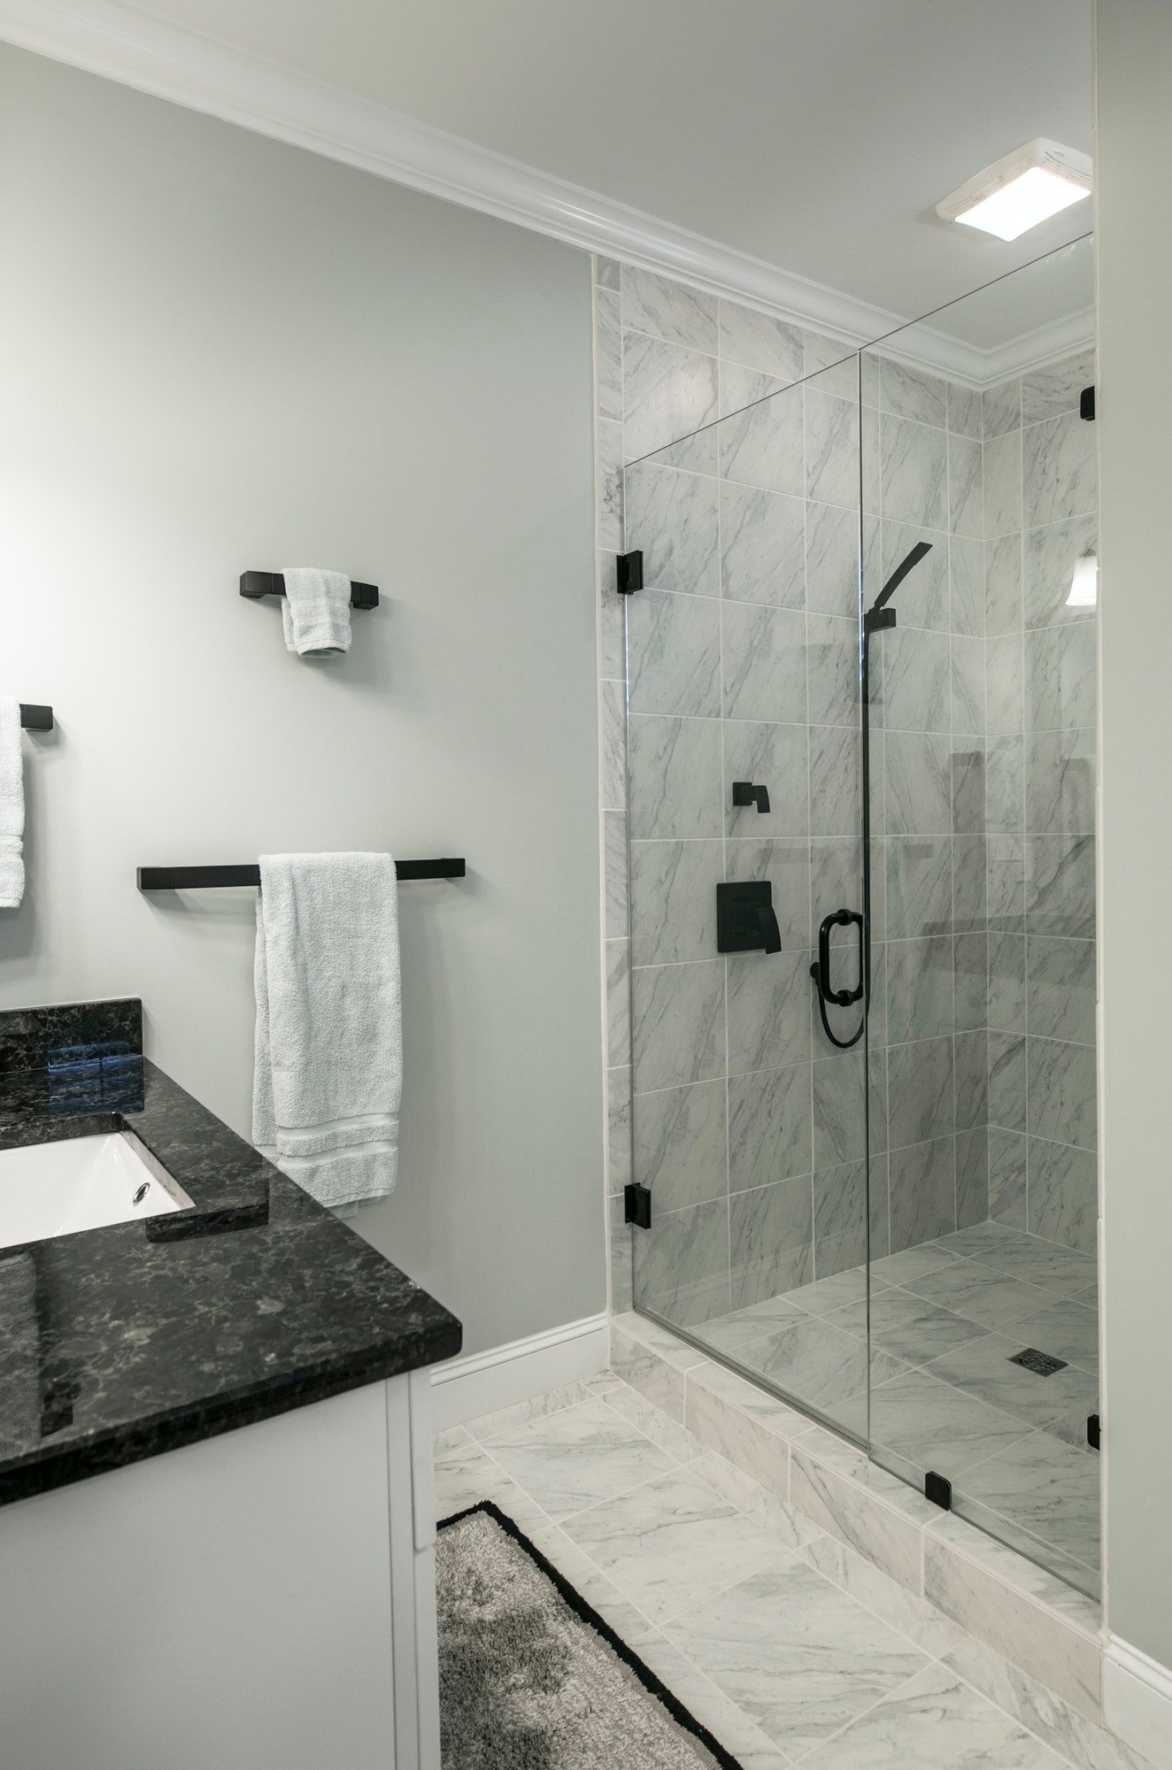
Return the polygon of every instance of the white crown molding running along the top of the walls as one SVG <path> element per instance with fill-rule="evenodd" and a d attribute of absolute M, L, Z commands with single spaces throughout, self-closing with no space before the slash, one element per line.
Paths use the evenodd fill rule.
<path fill-rule="evenodd" d="M 809 326 L 852 349 L 906 324 L 905 315 L 765 264 L 250 50 L 150 18 L 120 0 L 0 0 L 0 39 L 584 251 Z M 921 326 L 914 352 L 892 347 L 889 354 L 981 388 L 1053 361 L 1091 343 L 1092 336 L 1091 312 L 1064 317 L 1053 327 L 1025 333 L 991 350 Z"/>

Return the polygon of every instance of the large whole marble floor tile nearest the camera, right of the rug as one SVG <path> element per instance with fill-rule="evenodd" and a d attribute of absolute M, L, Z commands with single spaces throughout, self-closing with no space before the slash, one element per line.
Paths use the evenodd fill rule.
<path fill-rule="evenodd" d="M 924 1666 L 908 1641 L 797 1556 L 692 1605 L 664 1632 L 790 1756 Z"/>

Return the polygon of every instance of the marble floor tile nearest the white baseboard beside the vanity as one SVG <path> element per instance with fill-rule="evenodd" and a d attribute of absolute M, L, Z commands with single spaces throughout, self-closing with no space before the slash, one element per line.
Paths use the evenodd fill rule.
<path fill-rule="evenodd" d="M 676 1467 L 602 1400 L 515 1427 L 485 1448 L 551 1519 L 567 1519 Z"/>

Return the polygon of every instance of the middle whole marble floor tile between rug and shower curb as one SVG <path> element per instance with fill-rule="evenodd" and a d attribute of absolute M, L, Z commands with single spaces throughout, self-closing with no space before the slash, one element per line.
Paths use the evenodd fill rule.
<path fill-rule="evenodd" d="M 565 1529 L 653 1623 L 784 1559 L 763 1526 L 680 1467 L 574 1513 Z"/>

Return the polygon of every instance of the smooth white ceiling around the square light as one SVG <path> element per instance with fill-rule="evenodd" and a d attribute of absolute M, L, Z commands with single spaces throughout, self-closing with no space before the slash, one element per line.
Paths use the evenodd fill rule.
<path fill-rule="evenodd" d="M 150 0 L 186 25 L 914 317 L 1004 244 L 935 204 L 1036 135 L 1091 152 L 1092 0 Z"/>

